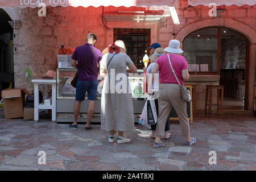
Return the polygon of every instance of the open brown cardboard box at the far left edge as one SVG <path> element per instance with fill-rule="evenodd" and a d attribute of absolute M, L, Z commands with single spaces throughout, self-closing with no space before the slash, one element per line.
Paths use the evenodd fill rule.
<path fill-rule="evenodd" d="M 5 89 L 2 90 L 5 118 L 22 118 L 25 105 L 26 89 Z"/>

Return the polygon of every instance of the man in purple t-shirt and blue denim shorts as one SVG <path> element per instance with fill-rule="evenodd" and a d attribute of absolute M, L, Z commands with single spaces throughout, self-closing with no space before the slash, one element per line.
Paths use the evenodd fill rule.
<path fill-rule="evenodd" d="M 98 67 L 100 67 L 100 61 L 102 58 L 101 51 L 94 48 L 96 41 L 97 38 L 94 34 L 88 34 L 86 44 L 77 47 L 72 55 L 72 67 L 80 70 L 76 84 L 74 122 L 69 125 L 69 127 L 73 129 L 77 129 L 77 118 L 80 113 L 81 103 L 84 101 L 86 92 L 88 92 L 88 110 L 85 131 L 90 131 L 93 129 L 90 127 L 90 121 L 92 120 L 94 113 L 94 102 L 96 100 L 98 87 Z M 84 65 L 82 65 L 83 62 Z"/>

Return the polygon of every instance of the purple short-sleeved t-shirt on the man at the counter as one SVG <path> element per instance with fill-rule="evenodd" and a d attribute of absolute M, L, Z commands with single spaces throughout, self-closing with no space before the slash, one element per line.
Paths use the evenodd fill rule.
<path fill-rule="evenodd" d="M 84 44 L 75 49 L 72 59 L 77 61 L 77 70 L 81 69 L 82 61 L 85 61 L 89 53 L 94 49 L 92 44 Z M 96 49 L 90 57 L 88 57 L 84 67 L 80 70 L 77 81 L 92 81 L 98 79 L 98 62 L 101 61 L 102 54 Z"/>

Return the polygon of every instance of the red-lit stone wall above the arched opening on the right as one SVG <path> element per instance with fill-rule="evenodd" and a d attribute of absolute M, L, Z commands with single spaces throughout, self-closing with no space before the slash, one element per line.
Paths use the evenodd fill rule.
<path fill-rule="evenodd" d="M 163 22 L 159 23 L 159 33 L 165 34 L 166 36 L 162 35 L 162 39 L 159 37 L 159 43 L 163 45 L 163 47 L 167 47 L 169 40 L 168 38 L 176 38 L 176 35 L 179 31 L 185 28 L 185 32 L 187 35 L 192 32 L 189 28 L 186 28 L 189 24 L 194 22 L 199 22 L 206 19 L 212 19 L 213 24 L 215 20 L 219 18 L 231 18 L 233 20 L 237 20 L 238 22 L 242 22 L 247 26 L 256 30 L 256 5 L 249 6 L 218 6 L 222 9 L 225 9 L 222 13 L 217 13 L 217 17 L 210 17 L 209 10 L 210 8 L 207 6 L 199 5 L 199 6 L 190 6 L 188 5 L 187 0 L 179 0 L 178 7 L 176 7 L 177 15 L 179 17 L 180 24 L 174 24 L 171 17 L 164 18 Z M 224 22 L 218 22 L 220 26 L 224 25 Z M 213 26 L 212 25 L 205 25 L 205 26 Z M 241 32 L 243 34 L 243 32 Z M 180 40 L 183 42 L 183 40 Z"/>

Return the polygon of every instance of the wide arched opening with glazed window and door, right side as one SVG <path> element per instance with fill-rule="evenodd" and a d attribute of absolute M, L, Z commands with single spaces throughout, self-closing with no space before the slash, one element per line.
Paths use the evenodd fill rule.
<path fill-rule="evenodd" d="M 225 86 L 224 110 L 247 109 L 248 45 L 245 36 L 225 27 L 201 28 L 183 40 L 191 74 L 220 75 L 220 85 Z"/>

